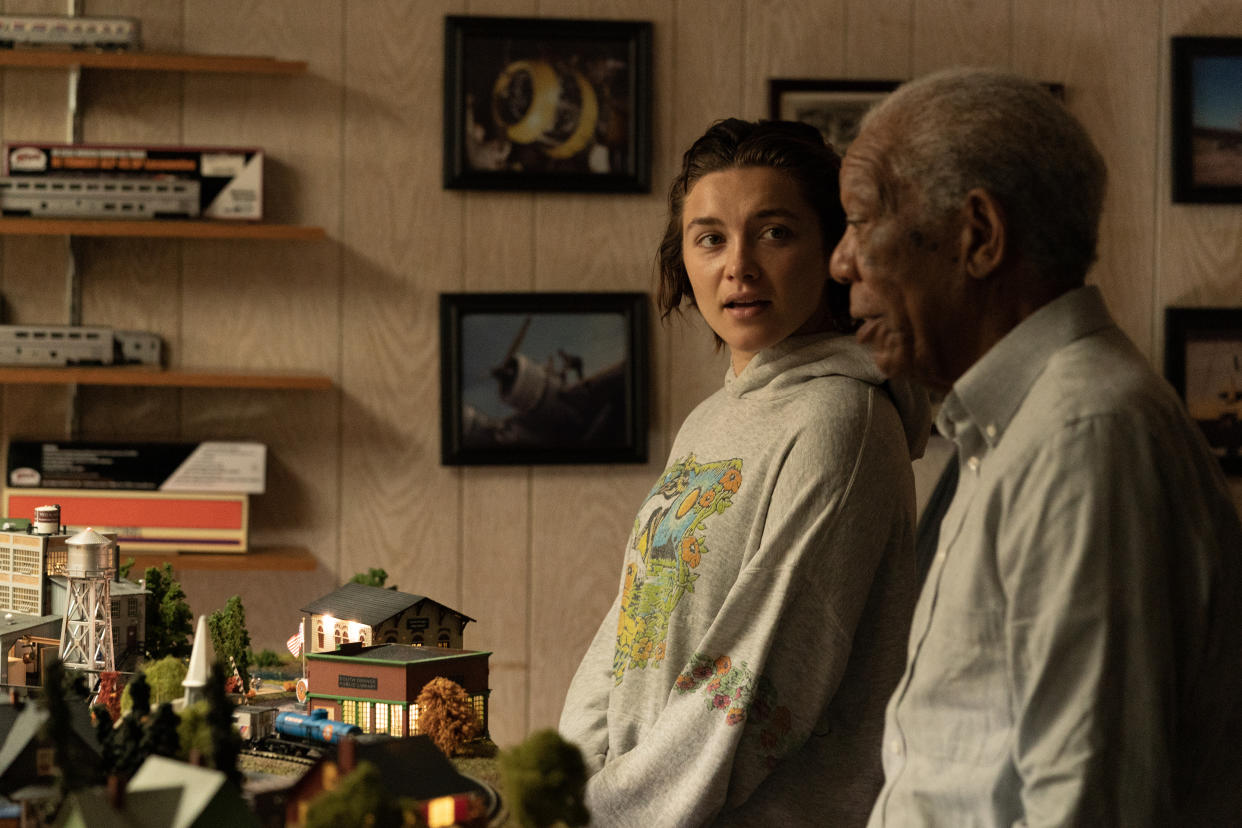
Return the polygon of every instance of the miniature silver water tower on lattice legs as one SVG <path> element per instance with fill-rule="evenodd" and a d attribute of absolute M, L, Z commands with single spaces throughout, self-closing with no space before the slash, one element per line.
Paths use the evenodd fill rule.
<path fill-rule="evenodd" d="M 65 541 L 68 562 L 68 602 L 61 627 L 61 662 L 79 670 L 113 670 L 112 541 L 84 529 Z"/>

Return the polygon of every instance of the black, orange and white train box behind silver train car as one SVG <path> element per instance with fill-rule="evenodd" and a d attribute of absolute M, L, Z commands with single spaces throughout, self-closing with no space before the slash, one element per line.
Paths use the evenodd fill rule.
<path fill-rule="evenodd" d="M 205 218 L 263 217 L 263 150 L 255 148 L 6 142 L 4 175 L 179 179 L 197 185 Z"/>

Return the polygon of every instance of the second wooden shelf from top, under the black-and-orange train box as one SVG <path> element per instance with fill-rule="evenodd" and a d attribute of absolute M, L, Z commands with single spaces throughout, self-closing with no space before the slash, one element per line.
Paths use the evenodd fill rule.
<path fill-rule="evenodd" d="M 150 218 L 0 218 L 0 236 L 138 236 L 145 238 L 257 238 L 318 241 L 323 227 L 265 225 L 246 221 Z"/>

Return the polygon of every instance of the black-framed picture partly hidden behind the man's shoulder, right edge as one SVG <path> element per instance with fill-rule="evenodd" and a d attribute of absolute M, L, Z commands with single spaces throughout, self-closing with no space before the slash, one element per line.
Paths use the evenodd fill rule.
<path fill-rule="evenodd" d="M 1242 308 L 1165 308 L 1165 377 L 1228 474 L 1242 474 Z"/>

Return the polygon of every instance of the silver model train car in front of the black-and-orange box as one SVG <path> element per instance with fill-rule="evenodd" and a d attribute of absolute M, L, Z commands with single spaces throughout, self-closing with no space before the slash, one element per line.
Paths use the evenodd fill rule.
<path fill-rule="evenodd" d="M 133 176 L 0 176 L 0 212 L 60 218 L 197 218 L 199 182 Z"/>

